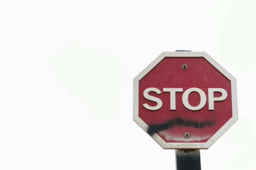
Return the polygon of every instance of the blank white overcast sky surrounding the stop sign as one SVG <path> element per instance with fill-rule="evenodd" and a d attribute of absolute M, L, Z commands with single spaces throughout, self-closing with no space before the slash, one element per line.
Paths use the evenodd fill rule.
<path fill-rule="evenodd" d="M 239 120 L 207 170 L 255 169 L 256 1 L 0 1 L 0 169 L 174 170 L 132 120 L 133 78 L 206 51 L 238 81 Z"/>

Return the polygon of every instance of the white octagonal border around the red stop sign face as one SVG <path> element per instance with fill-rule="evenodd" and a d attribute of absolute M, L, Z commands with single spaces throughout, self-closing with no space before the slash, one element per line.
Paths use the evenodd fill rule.
<path fill-rule="evenodd" d="M 217 139 L 223 135 L 237 120 L 237 84 L 236 78 L 233 77 L 225 68 L 218 64 L 206 52 L 162 52 L 152 63 L 150 63 L 141 73 L 133 79 L 133 120 L 146 132 L 148 125 L 139 118 L 139 80 L 142 79 L 151 69 L 165 57 L 204 57 L 212 64 L 219 72 L 226 76 L 231 81 L 231 97 L 232 97 L 232 118 L 225 123 L 206 143 L 171 143 L 165 142 L 159 135 L 154 133 L 151 137 L 163 149 L 209 149 Z"/>

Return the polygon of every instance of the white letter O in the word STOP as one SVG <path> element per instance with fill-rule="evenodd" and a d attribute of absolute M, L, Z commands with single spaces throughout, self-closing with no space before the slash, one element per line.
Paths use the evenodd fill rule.
<path fill-rule="evenodd" d="M 188 103 L 188 95 L 191 93 L 191 92 L 198 92 L 199 95 L 200 95 L 200 104 L 196 107 L 193 107 L 191 106 L 189 103 Z M 188 108 L 189 110 L 199 110 L 201 108 L 204 107 L 204 105 L 206 104 L 206 95 L 204 93 L 204 91 L 202 91 L 201 89 L 198 89 L 198 88 L 190 88 L 188 90 L 186 90 L 183 95 L 182 95 L 182 103 L 183 105 Z"/>

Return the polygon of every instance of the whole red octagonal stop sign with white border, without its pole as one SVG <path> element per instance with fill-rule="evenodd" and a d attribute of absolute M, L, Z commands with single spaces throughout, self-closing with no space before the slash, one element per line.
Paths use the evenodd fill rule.
<path fill-rule="evenodd" d="M 133 120 L 164 149 L 209 149 L 238 120 L 236 78 L 206 52 L 162 52 L 133 79 Z"/>

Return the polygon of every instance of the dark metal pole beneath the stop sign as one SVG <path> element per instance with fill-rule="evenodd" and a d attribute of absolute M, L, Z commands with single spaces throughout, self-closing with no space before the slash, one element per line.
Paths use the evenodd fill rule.
<path fill-rule="evenodd" d="M 201 170 L 200 150 L 175 150 L 176 170 Z"/>

